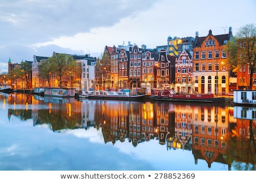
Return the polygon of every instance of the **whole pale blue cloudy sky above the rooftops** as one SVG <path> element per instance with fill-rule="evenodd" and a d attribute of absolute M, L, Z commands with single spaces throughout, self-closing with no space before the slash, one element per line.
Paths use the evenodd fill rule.
<path fill-rule="evenodd" d="M 100 56 L 105 46 L 155 48 L 167 37 L 228 33 L 256 23 L 255 0 L 1 0 L 0 71 L 53 51 Z"/>

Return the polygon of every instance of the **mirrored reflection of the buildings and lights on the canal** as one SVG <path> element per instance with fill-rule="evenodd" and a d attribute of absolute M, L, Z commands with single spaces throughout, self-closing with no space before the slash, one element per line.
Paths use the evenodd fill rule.
<path fill-rule="evenodd" d="M 30 94 L 1 96 L 3 108 L 34 126 L 50 130 L 90 127 L 101 131 L 105 143 L 137 147 L 158 140 L 166 151 L 190 151 L 194 163 L 221 163 L 234 170 L 255 170 L 256 108 L 177 104 L 171 102 L 77 101 Z M 152 146 L 154 150 L 154 146 Z M 190 164 L 193 165 L 193 164 Z M 233 168 L 232 168 L 233 167 Z"/>

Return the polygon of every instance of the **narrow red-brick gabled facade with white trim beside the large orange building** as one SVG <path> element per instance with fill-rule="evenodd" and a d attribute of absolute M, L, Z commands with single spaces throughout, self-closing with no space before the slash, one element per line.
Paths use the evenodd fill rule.
<path fill-rule="evenodd" d="M 181 93 L 193 93 L 193 61 L 185 49 L 175 61 L 175 91 Z"/>

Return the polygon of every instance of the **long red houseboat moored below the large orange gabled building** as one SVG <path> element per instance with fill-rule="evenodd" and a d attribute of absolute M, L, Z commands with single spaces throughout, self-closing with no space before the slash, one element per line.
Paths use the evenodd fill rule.
<path fill-rule="evenodd" d="M 169 89 L 153 89 L 151 90 L 151 100 L 156 101 L 187 101 L 187 102 L 214 102 L 225 101 L 225 98 L 214 98 L 210 94 L 190 94 L 190 93 L 176 93 L 174 90 Z"/>

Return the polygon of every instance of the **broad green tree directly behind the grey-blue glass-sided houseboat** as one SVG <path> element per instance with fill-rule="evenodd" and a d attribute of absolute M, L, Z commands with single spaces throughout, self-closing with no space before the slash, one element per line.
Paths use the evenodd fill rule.
<path fill-rule="evenodd" d="M 76 71 L 76 61 L 72 56 L 66 54 L 54 54 L 49 57 L 49 64 L 53 73 L 59 79 L 59 85 L 62 86 L 61 81 L 63 76 L 67 76 L 70 72 Z"/>

